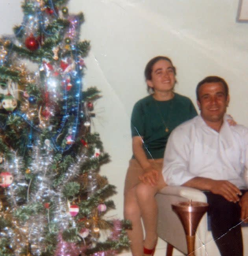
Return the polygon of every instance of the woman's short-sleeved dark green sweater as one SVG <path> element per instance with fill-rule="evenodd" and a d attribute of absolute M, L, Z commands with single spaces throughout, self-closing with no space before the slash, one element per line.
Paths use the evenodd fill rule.
<path fill-rule="evenodd" d="M 175 93 L 171 100 L 158 101 L 149 95 L 136 102 L 133 107 L 132 137 L 143 137 L 147 158 L 163 158 L 172 130 L 196 115 L 193 103 L 185 96 Z"/>

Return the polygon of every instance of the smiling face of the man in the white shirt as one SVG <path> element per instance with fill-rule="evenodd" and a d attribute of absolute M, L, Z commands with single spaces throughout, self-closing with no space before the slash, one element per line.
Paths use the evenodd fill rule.
<path fill-rule="evenodd" d="M 204 83 L 200 87 L 197 105 L 205 122 L 222 122 L 228 103 L 229 95 L 221 82 Z"/>

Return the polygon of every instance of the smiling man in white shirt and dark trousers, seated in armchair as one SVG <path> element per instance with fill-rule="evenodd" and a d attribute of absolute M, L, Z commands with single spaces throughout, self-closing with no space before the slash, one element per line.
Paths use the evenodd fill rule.
<path fill-rule="evenodd" d="M 207 196 L 211 231 L 222 256 L 242 256 L 240 218 L 248 222 L 248 128 L 229 126 L 224 79 L 208 76 L 196 88 L 200 115 L 178 126 L 165 150 L 163 177 L 168 185 L 201 189 Z"/>

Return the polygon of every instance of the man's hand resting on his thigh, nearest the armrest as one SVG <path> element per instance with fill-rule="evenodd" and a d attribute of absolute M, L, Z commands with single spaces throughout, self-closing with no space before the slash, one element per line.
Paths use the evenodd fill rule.
<path fill-rule="evenodd" d="M 209 190 L 214 194 L 222 195 L 230 202 L 239 202 L 238 195 L 242 195 L 241 191 L 227 180 L 211 180 Z"/>

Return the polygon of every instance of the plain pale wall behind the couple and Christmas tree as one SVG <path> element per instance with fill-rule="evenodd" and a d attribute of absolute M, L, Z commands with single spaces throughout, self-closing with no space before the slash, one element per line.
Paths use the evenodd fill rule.
<path fill-rule="evenodd" d="M 20 2 L 0 1 L 4 20 L 0 34 L 12 33 L 13 25 L 20 24 Z M 225 78 L 231 95 L 228 113 L 248 126 L 248 23 L 236 22 L 238 4 L 238 0 L 69 1 L 70 13 L 85 14 L 81 39 L 91 40 L 85 87 L 97 86 L 103 95 L 93 121 L 112 160 L 102 167 L 102 174 L 118 190 L 113 198 L 117 210 L 111 215 L 122 217 L 124 177 L 131 157 L 130 115 L 133 104 L 147 95 L 143 70 L 150 58 L 172 58 L 178 71 L 176 91 L 194 104 L 194 90 L 202 78 Z"/>

